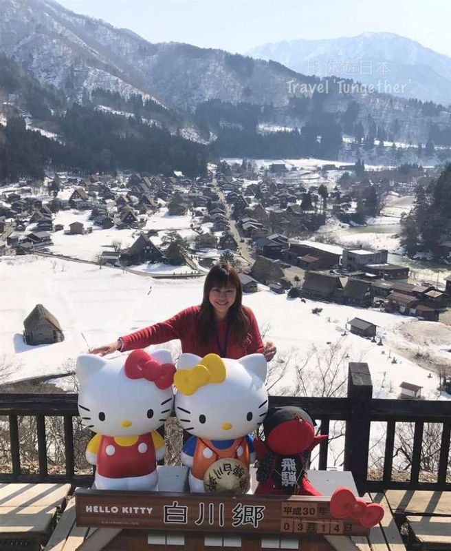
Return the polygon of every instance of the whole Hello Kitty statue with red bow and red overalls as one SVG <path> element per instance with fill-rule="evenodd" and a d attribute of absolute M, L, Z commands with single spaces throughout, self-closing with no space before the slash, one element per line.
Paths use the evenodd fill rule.
<path fill-rule="evenodd" d="M 155 430 L 173 409 L 174 373 L 166 350 L 135 350 L 113 360 L 78 357 L 78 412 L 97 433 L 86 450 L 87 461 L 97 466 L 96 489 L 156 489 L 156 462 L 165 446 Z"/>

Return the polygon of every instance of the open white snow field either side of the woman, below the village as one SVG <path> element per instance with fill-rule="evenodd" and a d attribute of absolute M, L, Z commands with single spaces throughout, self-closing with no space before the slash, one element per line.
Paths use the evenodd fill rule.
<path fill-rule="evenodd" d="M 199 304 L 203 286 L 203 278 L 155 280 L 117 269 L 36 256 L 1 258 L 0 277 L 0 316 L 5 320 L 0 346 L 5 360 L 14 366 L 10 380 L 63 373 L 89 347 L 111 342 Z M 437 376 L 428 378 L 428 371 L 402 354 L 411 340 L 411 332 L 403 329 L 405 324 L 415 324 L 417 328 L 424 325 L 430 331 L 430 323 L 376 310 L 309 300 L 304 303 L 276 295 L 263 286 L 261 289 L 245 295 L 244 302 L 254 310 L 264 339 L 273 340 L 278 347 L 278 355 L 270 364 L 273 394 L 293 394 L 296 366 L 303 366 L 305 373 L 314 373 L 318 361 L 334 349 L 342 358 L 341 376 L 346 373 L 348 362 L 368 362 L 375 396 L 396 397 L 399 384 L 408 381 L 423 386 L 427 397 L 437 399 Z M 59 320 L 64 342 L 24 344 L 23 320 L 39 303 Z M 322 308 L 319 315 L 311 312 L 316 306 Z M 377 324 L 383 346 L 350 333 L 342 336 L 345 324 L 355 316 Z M 434 323 L 433 327 L 438 331 L 445 326 Z M 422 346 L 423 351 L 433 354 L 443 353 L 445 344 L 446 338 L 436 338 Z M 177 342 L 169 346 L 179 351 Z M 392 363 L 394 356 L 396 364 Z M 310 391 L 314 394 L 315 388 Z"/>

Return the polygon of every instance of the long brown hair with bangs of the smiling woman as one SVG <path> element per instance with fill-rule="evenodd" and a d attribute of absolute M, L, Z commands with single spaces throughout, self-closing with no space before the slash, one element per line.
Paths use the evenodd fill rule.
<path fill-rule="evenodd" d="M 199 311 L 199 339 L 202 343 L 208 342 L 210 337 L 214 335 L 214 308 L 210 304 L 208 295 L 213 287 L 229 287 L 233 285 L 236 289 L 235 302 L 230 306 L 227 313 L 230 329 L 238 338 L 241 344 L 244 344 L 249 338 L 250 321 L 248 314 L 241 304 L 243 298 L 243 287 L 238 273 L 234 267 L 228 263 L 214 264 L 212 269 L 207 274 L 205 283 L 203 284 L 203 299 L 201 309 Z"/>

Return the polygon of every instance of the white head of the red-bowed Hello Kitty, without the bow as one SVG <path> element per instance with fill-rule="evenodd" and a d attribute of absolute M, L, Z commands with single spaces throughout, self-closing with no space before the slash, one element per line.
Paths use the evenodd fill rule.
<path fill-rule="evenodd" d="M 170 415 L 173 408 L 170 383 L 167 388 L 159 388 L 144 377 L 126 375 L 125 362 L 140 352 L 113 360 L 91 354 L 78 357 L 78 412 L 83 424 L 95 433 L 111 437 L 143 435 L 162 426 Z M 168 351 L 157 351 L 152 357 L 162 364 L 171 362 Z"/>

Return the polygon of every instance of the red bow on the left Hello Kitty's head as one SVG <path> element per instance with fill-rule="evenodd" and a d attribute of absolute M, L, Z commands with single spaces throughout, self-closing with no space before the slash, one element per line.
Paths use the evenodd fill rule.
<path fill-rule="evenodd" d="M 144 350 L 134 350 L 125 360 L 124 372 L 129 379 L 145 379 L 165 390 L 174 382 L 175 365 L 160 364 Z"/>

